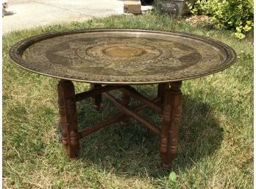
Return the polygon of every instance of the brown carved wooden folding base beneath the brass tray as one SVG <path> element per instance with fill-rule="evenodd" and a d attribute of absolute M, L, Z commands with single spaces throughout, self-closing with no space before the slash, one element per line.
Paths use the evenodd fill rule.
<path fill-rule="evenodd" d="M 128 85 L 99 85 L 91 84 L 90 90 L 83 93 L 75 93 L 74 85 L 69 80 L 60 79 L 57 86 L 58 104 L 60 113 L 60 124 L 62 129 L 61 141 L 71 158 L 77 158 L 79 153 L 79 140 L 91 133 L 102 129 L 104 126 L 120 122 L 122 125 L 129 124 L 129 117 L 140 121 L 144 126 L 151 129 L 155 134 L 160 135 L 160 157 L 163 168 L 169 168 L 171 161 L 177 157 L 177 142 L 179 133 L 179 124 L 182 115 L 182 92 L 180 87 L 182 82 L 170 82 L 158 85 L 157 97 L 153 100 L 147 99 L 135 88 Z M 120 99 L 111 96 L 107 91 L 121 90 Z M 77 101 L 91 98 L 96 110 L 99 110 L 102 96 L 109 99 L 115 107 L 121 110 L 121 113 L 107 118 L 95 126 L 85 128 L 79 131 L 77 125 Z M 141 101 L 142 105 L 131 108 L 129 99 L 133 97 Z M 158 113 L 163 115 L 163 126 L 158 128 L 146 121 L 138 114 L 145 107 L 152 107 Z"/>

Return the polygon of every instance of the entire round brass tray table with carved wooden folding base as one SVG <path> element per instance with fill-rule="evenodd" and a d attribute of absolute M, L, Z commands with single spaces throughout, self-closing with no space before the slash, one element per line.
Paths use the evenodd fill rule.
<path fill-rule="evenodd" d="M 79 140 L 104 126 L 135 118 L 160 136 L 161 165 L 177 157 L 182 117 L 182 80 L 222 71 L 235 62 L 235 51 L 224 43 L 199 35 L 141 29 L 94 29 L 56 32 L 27 38 L 10 49 L 14 63 L 38 74 L 60 79 L 57 85 L 61 141 L 71 158 L 79 154 Z M 72 81 L 90 83 L 90 90 L 75 93 Z M 155 99 L 147 99 L 131 85 L 157 84 Z M 116 99 L 110 90 L 121 90 Z M 95 126 L 78 129 L 77 101 L 93 99 L 99 110 L 102 96 L 121 113 Z M 129 99 L 141 101 L 129 107 Z M 163 115 L 160 127 L 139 111 L 152 107 Z"/>

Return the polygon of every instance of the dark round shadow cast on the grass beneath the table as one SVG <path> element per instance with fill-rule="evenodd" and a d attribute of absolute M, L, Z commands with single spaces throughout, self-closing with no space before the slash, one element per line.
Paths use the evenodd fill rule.
<path fill-rule="evenodd" d="M 154 95 L 151 92 L 149 98 Z M 103 101 L 104 107 L 98 113 L 88 102 L 89 100 L 78 105 L 78 119 L 82 127 L 92 126 L 118 113 L 106 99 Z M 131 101 L 131 104 L 136 106 L 138 102 Z M 178 168 L 190 168 L 193 163 L 210 156 L 223 139 L 223 130 L 211 107 L 185 95 L 182 106 L 178 157 L 172 165 L 174 171 Z M 161 116 L 154 110 L 143 110 L 141 115 L 153 124 L 161 125 Z M 168 172 L 160 168 L 159 144 L 157 135 L 131 119 L 129 126 L 113 124 L 82 139 L 79 158 L 99 170 L 119 176 L 166 176 Z"/>

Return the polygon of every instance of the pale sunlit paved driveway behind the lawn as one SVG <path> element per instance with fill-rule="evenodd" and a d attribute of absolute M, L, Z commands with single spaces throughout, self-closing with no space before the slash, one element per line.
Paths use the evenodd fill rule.
<path fill-rule="evenodd" d="M 123 14 L 124 0 L 9 0 L 15 15 L 2 18 L 3 33 L 35 26 Z"/>

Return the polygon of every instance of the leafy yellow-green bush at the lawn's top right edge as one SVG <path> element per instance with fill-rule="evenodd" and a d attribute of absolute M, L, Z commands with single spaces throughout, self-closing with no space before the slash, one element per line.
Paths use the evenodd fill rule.
<path fill-rule="evenodd" d="M 234 29 L 238 38 L 253 27 L 253 0 L 196 0 L 189 8 L 195 15 L 210 15 L 221 28 Z"/>

